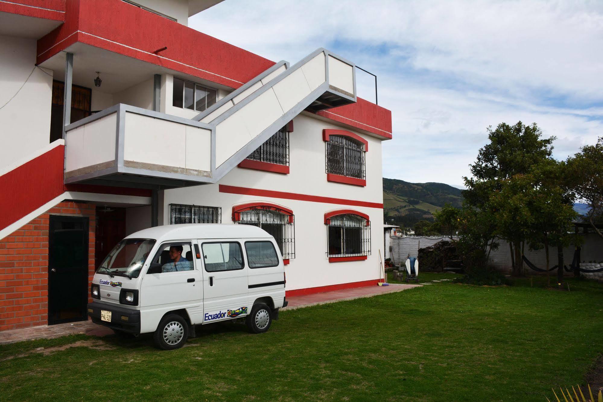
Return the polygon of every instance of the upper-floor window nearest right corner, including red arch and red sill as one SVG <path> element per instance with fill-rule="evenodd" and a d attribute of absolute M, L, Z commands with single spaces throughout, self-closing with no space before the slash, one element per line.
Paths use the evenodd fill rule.
<path fill-rule="evenodd" d="M 368 142 L 358 134 L 325 128 L 326 172 L 328 181 L 366 186 L 364 152 Z"/>

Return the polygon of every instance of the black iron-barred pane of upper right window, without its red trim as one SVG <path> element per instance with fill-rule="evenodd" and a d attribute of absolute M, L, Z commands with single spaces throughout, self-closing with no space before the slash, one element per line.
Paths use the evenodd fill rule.
<path fill-rule="evenodd" d="M 326 171 L 341 176 L 365 179 L 362 144 L 349 137 L 330 136 L 325 142 Z"/>

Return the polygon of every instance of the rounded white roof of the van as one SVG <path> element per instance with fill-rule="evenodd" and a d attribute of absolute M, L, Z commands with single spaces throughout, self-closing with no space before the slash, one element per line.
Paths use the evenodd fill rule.
<path fill-rule="evenodd" d="M 229 239 L 270 238 L 270 234 L 253 225 L 235 224 L 177 224 L 143 229 L 126 236 L 126 239 Z"/>

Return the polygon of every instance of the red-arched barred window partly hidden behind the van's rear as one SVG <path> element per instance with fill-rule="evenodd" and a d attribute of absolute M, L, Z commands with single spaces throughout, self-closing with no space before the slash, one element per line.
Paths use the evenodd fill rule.
<path fill-rule="evenodd" d="M 295 225 L 294 216 L 274 210 L 274 207 L 252 207 L 238 213 L 239 219 L 233 222 L 241 225 L 253 225 L 267 231 L 276 240 L 283 260 L 295 258 Z"/>

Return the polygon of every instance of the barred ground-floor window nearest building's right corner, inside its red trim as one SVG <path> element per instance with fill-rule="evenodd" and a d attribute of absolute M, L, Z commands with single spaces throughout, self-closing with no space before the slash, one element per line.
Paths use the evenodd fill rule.
<path fill-rule="evenodd" d="M 344 214 L 330 218 L 327 225 L 328 257 L 371 255 L 371 222 L 361 216 Z"/>

